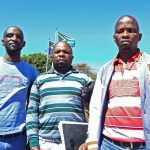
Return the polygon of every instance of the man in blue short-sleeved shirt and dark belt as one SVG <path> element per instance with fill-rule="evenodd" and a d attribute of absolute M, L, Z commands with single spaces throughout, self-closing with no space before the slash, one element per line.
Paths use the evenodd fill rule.
<path fill-rule="evenodd" d="M 25 41 L 19 27 L 7 28 L 2 44 L 6 52 L 0 58 L 0 150 L 24 150 L 26 105 L 37 71 L 21 60 Z"/>

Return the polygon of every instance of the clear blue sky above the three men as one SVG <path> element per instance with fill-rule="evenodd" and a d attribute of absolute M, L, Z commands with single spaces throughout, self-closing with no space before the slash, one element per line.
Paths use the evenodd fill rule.
<path fill-rule="evenodd" d="M 123 15 L 138 20 L 143 34 L 139 48 L 150 53 L 150 0 L 1 0 L 0 37 L 7 27 L 18 26 L 26 41 L 22 55 L 46 54 L 57 28 L 76 41 L 73 64 L 86 63 L 97 72 L 118 52 L 114 26 Z M 0 44 L 0 56 L 4 55 Z"/>

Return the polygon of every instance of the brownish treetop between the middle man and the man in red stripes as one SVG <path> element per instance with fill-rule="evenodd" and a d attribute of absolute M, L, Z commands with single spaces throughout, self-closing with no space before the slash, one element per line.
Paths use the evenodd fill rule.
<path fill-rule="evenodd" d="M 90 76 L 93 80 L 96 79 L 96 73 L 93 72 L 92 71 L 93 69 L 90 66 L 88 66 L 86 63 L 75 64 L 74 68 L 76 68 L 78 70 L 82 70 L 82 71 L 86 72 L 87 74 L 90 74 Z"/>

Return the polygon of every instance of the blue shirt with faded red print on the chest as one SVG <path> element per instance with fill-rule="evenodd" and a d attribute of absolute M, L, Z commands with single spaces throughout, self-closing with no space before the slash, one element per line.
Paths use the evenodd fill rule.
<path fill-rule="evenodd" d="M 21 132 L 25 128 L 28 88 L 37 71 L 31 65 L 0 58 L 0 135 Z"/>

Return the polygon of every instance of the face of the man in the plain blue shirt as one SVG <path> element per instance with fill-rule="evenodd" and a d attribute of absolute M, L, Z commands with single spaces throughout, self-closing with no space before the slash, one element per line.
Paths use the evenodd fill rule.
<path fill-rule="evenodd" d="M 7 51 L 20 51 L 25 46 L 22 31 L 17 27 L 8 28 L 4 33 L 2 43 Z"/>

